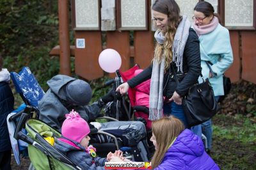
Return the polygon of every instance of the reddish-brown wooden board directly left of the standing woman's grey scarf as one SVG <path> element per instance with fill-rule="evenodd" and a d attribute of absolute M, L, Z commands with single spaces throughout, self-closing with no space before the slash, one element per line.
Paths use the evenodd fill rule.
<path fill-rule="evenodd" d="M 154 57 L 154 32 L 134 31 L 134 63 L 144 69 Z"/>

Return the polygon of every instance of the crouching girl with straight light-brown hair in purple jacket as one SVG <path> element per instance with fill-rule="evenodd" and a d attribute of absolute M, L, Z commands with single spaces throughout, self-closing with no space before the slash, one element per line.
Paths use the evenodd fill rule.
<path fill-rule="evenodd" d="M 152 121 L 156 152 L 152 169 L 220 169 L 204 150 L 204 143 L 174 116 Z"/>

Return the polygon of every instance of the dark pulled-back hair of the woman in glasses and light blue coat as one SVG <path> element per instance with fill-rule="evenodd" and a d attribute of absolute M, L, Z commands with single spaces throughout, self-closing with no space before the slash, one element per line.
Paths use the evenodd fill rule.
<path fill-rule="evenodd" d="M 197 3 L 194 8 L 194 11 L 204 13 L 205 17 L 210 17 L 211 15 L 213 15 L 213 16 L 217 17 L 220 22 L 220 16 L 218 15 L 218 13 L 214 13 L 214 8 L 213 8 L 212 4 L 210 4 L 206 1 L 201 1 L 201 2 Z"/>

